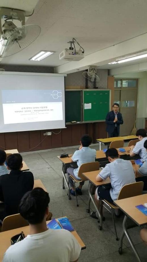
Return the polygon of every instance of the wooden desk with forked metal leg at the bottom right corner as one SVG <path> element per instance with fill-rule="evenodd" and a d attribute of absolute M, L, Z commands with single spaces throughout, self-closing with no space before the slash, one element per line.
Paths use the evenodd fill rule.
<path fill-rule="evenodd" d="M 147 203 L 147 194 L 140 196 L 133 196 L 125 199 L 120 199 L 114 201 L 115 204 L 125 213 L 125 217 L 123 220 L 123 231 L 121 233 L 121 237 L 119 240 L 119 253 L 122 253 L 122 245 L 124 235 L 127 236 L 129 243 L 137 257 L 137 260 L 141 262 L 140 257 L 137 253 L 137 250 L 127 232 L 127 218 L 131 218 L 138 226 L 143 226 L 147 224 L 147 216 L 144 215 L 141 211 L 139 211 L 136 206 Z"/>

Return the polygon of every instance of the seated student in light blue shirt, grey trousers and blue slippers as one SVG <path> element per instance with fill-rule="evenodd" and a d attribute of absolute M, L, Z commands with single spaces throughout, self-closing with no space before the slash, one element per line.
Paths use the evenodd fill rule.
<path fill-rule="evenodd" d="M 91 142 L 92 142 L 92 138 L 89 135 L 85 134 L 81 137 L 81 141 L 80 141 L 81 145 L 79 147 L 79 150 L 76 150 L 74 152 L 74 155 L 72 156 L 72 161 L 77 162 L 78 168 L 68 167 L 67 169 L 68 176 L 70 174 L 70 175 L 75 176 L 76 179 L 80 180 L 80 177 L 78 177 L 78 171 L 79 171 L 80 165 L 84 163 L 95 161 L 96 150 L 89 148 Z M 69 183 L 70 183 L 70 186 L 72 187 L 71 194 L 75 196 L 75 189 L 74 189 L 72 180 L 70 178 L 69 178 Z M 83 185 L 84 185 L 84 181 L 80 182 L 79 187 L 76 188 L 76 191 L 79 195 L 82 195 L 81 189 Z"/>

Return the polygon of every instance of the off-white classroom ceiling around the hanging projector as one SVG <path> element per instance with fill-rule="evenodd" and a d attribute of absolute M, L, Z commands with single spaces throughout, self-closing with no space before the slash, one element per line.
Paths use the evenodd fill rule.
<path fill-rule="evenodd" d="M 110 46 L 147 32 L 146 0 L 39 0 L 38 3 L 37 0 L 25 2 L 5 0 L 8 7 L 10 7 L 9 4 L 13 5 L 15 2 L 17 5 L 20 4 L 19 9 L 25 8 L 24 3 L 27 3 L 27 9 L 29 5 L 32 9 L 31 3 L 33 3 L 35 11 L 31 17 L 28 17 L 26 24 L 39 25 L 41 34 L 21 52 L 3 58 L 1 64 L 60 67 L 68 63 L 68 70 L 70 63 L 77 63 L 78 68 L 78 62 L 59 60 L 59 53 L 68 48 L 67 42 L 72 40 L 72 37 L 78 40 L 87 56 L 99 50 L 106 49 L 107 51 Z M 16 5 L 11 7 L 16 7 Z M 30 61 L 29 58 L 40 50 L 53 50 L 55 54 L 40 62 Z M 85 58 L 81 60 L 83 64 L 84 60 Z M 134 63 L 136 62 L 131 62 L 131 64 Z M 121 66 L 126 66 L 126 64 Z M 100 63 L 100 66 L 110 68 L 105 61 Z M 111 68 L 118 66 L 120 67 L 120 65 L 113 65 Z M 61 71 L 66 70 L 61 69 L 59 72 Z"/>

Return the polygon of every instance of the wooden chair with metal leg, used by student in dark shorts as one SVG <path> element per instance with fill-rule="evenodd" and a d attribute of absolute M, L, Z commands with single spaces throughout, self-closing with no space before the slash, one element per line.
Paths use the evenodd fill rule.
<path fill-rule="evenodd" d="M 144 182 L 142 182 L 142 181 L 136 182 L 136 183 L 131 183 L 131 184 L 123 186 L 121 191 L 119 192 L 117 200 L 132 197 L 132 196 L 142 195 L 143 186 L 144 186 Z M 111 213 L 112 221 L 113 221 L 113 224 L 114 224 L 114 230 L 115 230 L 115 233 L 116 233 L 116 240 L 118 241 L 119 238 L 117 236 L 116 225 L 115 225 L 115 220 L 114 220 L 114 215 L 113 215 L 113 210 L 118 209 L 118 207 L 116 205 L 108 202 L 105 199 L 101 200 L 101 208 L 102 208 L 102 206 L 104 206 Z"/>

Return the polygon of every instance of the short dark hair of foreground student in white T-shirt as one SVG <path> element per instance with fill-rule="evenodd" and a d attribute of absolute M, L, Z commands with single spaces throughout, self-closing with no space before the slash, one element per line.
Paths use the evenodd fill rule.
<path fill-rule="evenodd" d="M 49 193 L 36 187 L 22 197 L 18 212 L 29 224 L 39 224 L 43 221 L 49 202 Z"/>

